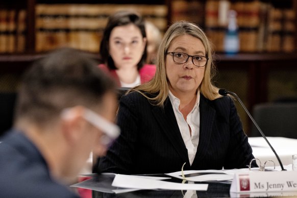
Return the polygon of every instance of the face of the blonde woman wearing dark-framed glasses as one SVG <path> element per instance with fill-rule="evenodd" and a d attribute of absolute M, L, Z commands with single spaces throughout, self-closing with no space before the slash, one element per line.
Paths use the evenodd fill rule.
<path fill-rule="evenodd" d="M 205 47 L 202 41 L 191 35 L 182 35 L 175 38 L 168 52 L 182 52 L 191 56 L 206 56 Z M 170 91 L 178 96 L 181 94 L 193 94 L 200 86 L 204 77 L 204 67 L 197 67 L 189 57 L 185 63 L 176 63 L 173 56 L 166 55 L 166 75 Z"/>

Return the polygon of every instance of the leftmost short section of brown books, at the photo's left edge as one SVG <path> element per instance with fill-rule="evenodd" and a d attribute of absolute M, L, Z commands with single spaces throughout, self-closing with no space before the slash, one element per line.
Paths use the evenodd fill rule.
<path fill-rule="evenodd" d="M 26 44 L 26 11 L 0 9 L 0 53 L 22 53 Z"/>

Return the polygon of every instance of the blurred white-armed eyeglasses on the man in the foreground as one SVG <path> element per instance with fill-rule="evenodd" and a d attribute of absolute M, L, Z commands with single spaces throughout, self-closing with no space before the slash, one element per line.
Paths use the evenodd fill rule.
<path fill-rule="evenodd" d="M 71 108 L 66 108 L 62 111 L 61 116 L 66 119 L 71 119 Z M 83 114 L 84 119 L 90 122 L 98 130 L 102 131 L 105 136 L 102 136 L 101 141 L 104 145 L 110 146 L 111 143 L 119 136 L 120 129 L 114 123 L 108 121 L 101 115 L 93 112 L 90 109 L 85 109 Z"/>

